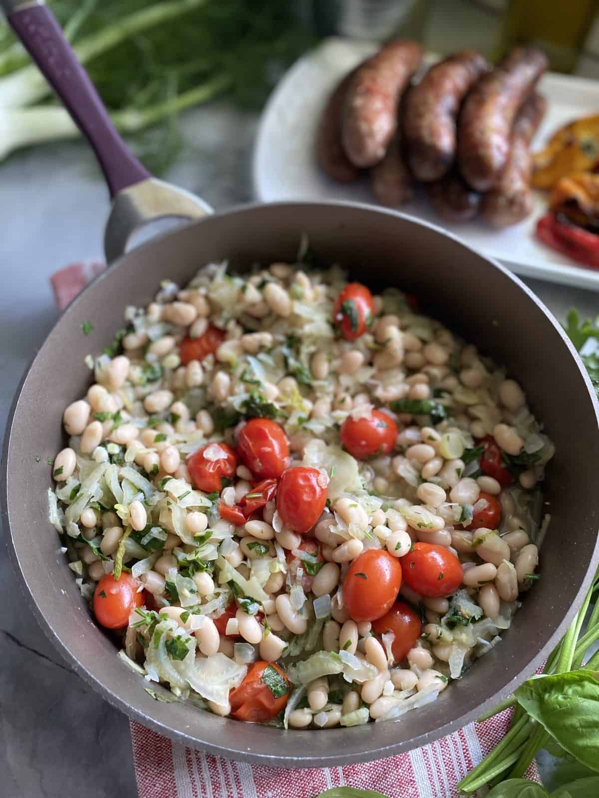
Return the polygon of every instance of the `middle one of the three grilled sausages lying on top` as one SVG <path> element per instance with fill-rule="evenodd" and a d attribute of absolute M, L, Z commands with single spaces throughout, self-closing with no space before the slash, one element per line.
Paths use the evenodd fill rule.
<path fill-rule="evenodd" d="M 446 58 L 430 67 L 411 89 L 403 115 L 407 163 L 423 181 L 440 180 L 455 157 L 455 128 L 463 98 L 489 64 L 476 50 Z"/>

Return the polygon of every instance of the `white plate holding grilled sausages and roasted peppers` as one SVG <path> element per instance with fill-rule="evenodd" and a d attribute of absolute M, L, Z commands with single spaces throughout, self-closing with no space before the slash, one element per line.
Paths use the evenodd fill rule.
<path fill-rule="evenodd" d="M 289 69 L 264 109 L 256 137 L 253 179 L 260 200 L 349 199 L 372 203 L 367 180 L 342 185 L 319 171 L 314 140 L 323 105 L 339 78 L 374 50 L 371 42 L 329 39 Z M 539 89 L 549 102 L 535 137 L 537 146 L 561 124 L 599 111 L 599 82 L 549 73 L 542 78 Z M 401 210 L 446 227 L 471 247 L 501 260 L 520 275 L 599 290 L 599 271 L 576 266 L 534 238 L 535 223 L 545 208 L 546 199 L 539 195 L 529 219 L 503 231 L 491 231 L 478 221 L 444 222 L 423 196 L 417 196 Z"/>

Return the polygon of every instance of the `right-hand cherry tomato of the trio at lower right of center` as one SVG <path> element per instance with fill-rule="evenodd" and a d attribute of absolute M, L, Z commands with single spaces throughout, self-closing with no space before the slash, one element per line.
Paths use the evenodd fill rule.
<path fill-rule="evenodd" d="M 449 596 L 462 584 L 462 564 L 444 546 L 414 543 L 400 562 L 403 581 L 421 596 Z"/>

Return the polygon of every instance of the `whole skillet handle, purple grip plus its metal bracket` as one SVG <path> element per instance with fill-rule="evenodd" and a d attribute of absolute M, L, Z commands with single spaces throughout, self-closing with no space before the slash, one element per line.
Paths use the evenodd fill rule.
<path fill-rule="evenodd" d="M 0 0 L 0 8 L 96 154 L 113 199 L 104 241 L 108 263 L 125 252 L 134 231 L 155 219 L 200 219 L 212 212 L 190 192 L 153 178 L 133 156 L 43 0 Z"/>

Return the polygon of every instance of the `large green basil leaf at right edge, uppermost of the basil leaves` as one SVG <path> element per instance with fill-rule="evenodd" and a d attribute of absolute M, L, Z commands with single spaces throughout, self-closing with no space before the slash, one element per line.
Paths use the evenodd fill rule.
<path fill-rule="evenodd" d="M 574 670 L 529 679 L 514 695 L 563 749 L 592 770 L 599 770 L 597 674 Z"/>

